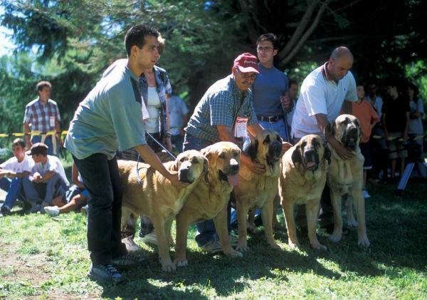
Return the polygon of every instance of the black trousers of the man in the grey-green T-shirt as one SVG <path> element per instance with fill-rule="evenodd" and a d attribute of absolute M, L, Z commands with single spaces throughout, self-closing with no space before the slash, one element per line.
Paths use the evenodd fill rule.
<path fill-rule="evenodd" d="M 122 181 L 117 157 L 96 153 L 78 160 L 73 156 L 83 185 L 89 193 L 88 249 L 93 265 L 110 264 L 111 259 L 127 254 L 120 236 L 122 219 Z"/>

